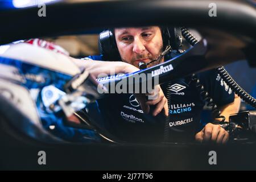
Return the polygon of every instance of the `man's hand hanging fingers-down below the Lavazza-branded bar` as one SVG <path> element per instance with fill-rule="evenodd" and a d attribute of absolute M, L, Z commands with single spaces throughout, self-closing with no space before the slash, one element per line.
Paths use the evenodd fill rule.
<path fill-rule="evenodd" d="M 146 96 L 154 96 L 154 100 L 147 100 Z M 158 115 L 161 111 L 163 111 L 164 115 L 168 116 L 168 102 L 167 98 L 164 96 L 163 90 L 160 88 L 160 85 L 156 85 L 154 92 L 148 94 L 135 94 L 135 97 L 139 101 L 139 105 L 141 105 L 141 109 L 144 113 L 149 113 L 150 105 L 155 105 L 154 111 L 152 114 L 154 116 Z"/>

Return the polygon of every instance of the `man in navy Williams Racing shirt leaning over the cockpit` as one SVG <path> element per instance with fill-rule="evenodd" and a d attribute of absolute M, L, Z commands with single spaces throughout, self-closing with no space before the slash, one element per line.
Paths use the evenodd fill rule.
<path fill-rule="evenodd" d="M 113 33 L 122 61 L 135 67 L 141 61 L 149 63 L 155 60 L 165 49 L 162 30 L 157 26 L 115 28 Z M 88 59 L 92 58 L 90 56 Z M 163 61 L 164 58 L 159 63 Z M 158 64 L 158 61 L 154 64 Z M 197 74 L 197 77 L 228 121 L 230 114 L 237 113 L 240 98 L 234 96 L 214 70 Z M 167 90 L 171 90 L 168 102 Z M 155 94 L 159 97 L 156 100 L 146 100 L 142 95 L 135 97 L 133 94 L 112 94 L 98 100 L 106 127 L 120 139 L 133 142 L 159 142 L 164 137 L 174 142 L 194 138 L 199 142 L 228 141 L 229 134 L 220 125 L 208 123 L 197 131 L 205 102 L 191 77 L 171 81 L 169 85 L 163 84 L 157 91 Z"/>

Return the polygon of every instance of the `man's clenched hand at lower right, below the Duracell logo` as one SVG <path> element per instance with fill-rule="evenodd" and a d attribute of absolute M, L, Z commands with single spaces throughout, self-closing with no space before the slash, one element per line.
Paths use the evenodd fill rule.
<path fill-rule="evenodd" d="M 198 142 L 213 142 L 218 144 L 224 144 L 228 142 L 229 133 L 224 130 L 220 125 L 213 125 L 208 123 L 204 129 L 196 134 L 195 139 Z"/>

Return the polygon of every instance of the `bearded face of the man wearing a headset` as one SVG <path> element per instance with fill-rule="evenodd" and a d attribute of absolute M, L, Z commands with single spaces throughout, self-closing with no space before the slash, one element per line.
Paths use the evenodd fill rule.
<path fill-rule="evenodd" d="M 163 49 L 159 27 L 115 28 L 115 40 L 122 61 L 138 67 L 139 62 L 149 63 L 158 59 Z M 162 63 L 155 61 L 149 66 Z"/>

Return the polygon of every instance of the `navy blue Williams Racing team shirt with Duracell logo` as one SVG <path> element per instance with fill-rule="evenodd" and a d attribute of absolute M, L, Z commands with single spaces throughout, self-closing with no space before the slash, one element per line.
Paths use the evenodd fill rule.
<path fill-rule="evenodd" d="M 89 56 L 86 59 L 102 60 L 102 56 Z M 184 65 L 185 69 L 185 65 Z M 234 93 L 218 75 L 216 69 L 197 73 L 214 103 L 223 106 L 234 101 Z M 191 77 L 173 80 L 162 84 L 167 96 L 170 90 L 169 116 L 159 113 L 144 114 L 134 94 L 109 94 L 97 100 L 97 105 L 104 118 L 104 127 L 121 140 L 128 142 L 162 142 L 164 137 L 169 142 L 187 142 L 199 132 L 201 111 L 205 101 L 196 89 Z M 154 106 L 151 107 L 151 111 Z"/>

